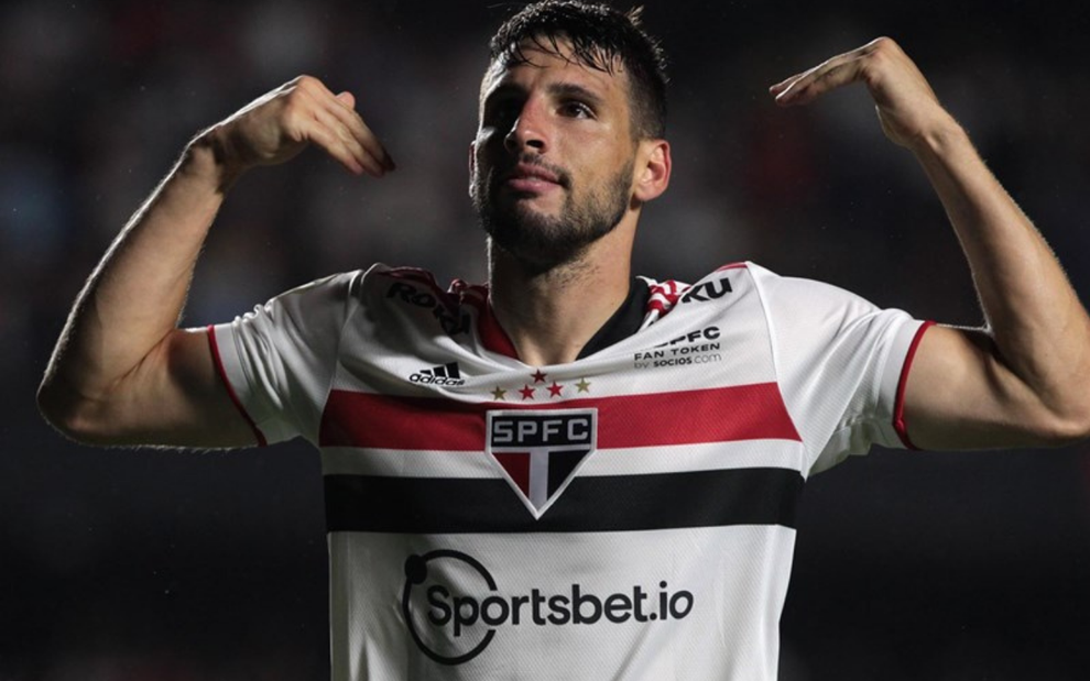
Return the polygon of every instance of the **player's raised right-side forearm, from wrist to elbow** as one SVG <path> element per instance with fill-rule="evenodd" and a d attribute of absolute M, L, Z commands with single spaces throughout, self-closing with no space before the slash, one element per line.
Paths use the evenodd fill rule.
<path fill-rule="evenodd" d="M 969 261 L 996 361 L 1053 413 L 1084 410 L 1090 320 L 1053 251 L 952 119 L 912 149 Z"/>

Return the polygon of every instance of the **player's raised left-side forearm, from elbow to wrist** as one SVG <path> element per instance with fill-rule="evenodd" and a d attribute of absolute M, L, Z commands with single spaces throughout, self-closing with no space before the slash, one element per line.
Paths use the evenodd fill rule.
<path fill-rule="evenodd" d="M 43 397 L 54 393 L 55 405 L 103 399 L 176 328 L 229 182 L 209 136 L 186 149 L 77 297 L 46 371 Z"/>

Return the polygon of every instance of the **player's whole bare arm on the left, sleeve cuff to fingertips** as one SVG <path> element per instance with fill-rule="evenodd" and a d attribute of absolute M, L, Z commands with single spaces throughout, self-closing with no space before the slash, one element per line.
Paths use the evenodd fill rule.
<path fill-rule="evenodd" d="M 313 143 L 357 175 L 393 168 L 355 103 L 302 76 L 186 146 L 76 298 L 39 389 L 51 424 L 101 444 L 253 443 L 206 331 L 177 327 L 194 265 L 228 189 L 254 166 Z"/>

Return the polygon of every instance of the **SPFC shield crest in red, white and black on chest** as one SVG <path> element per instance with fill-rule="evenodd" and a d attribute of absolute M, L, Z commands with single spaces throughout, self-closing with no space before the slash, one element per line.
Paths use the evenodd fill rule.
<path fill-rule="evenodd" d="M 535 518 L 598 446 L 598 409 L 495 409 L 487 417 L 484 451 Z"/>

